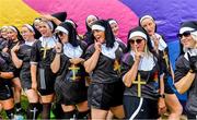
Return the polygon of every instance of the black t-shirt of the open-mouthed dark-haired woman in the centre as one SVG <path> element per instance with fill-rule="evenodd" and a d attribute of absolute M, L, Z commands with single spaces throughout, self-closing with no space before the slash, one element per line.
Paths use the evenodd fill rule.
<path fill-rule="evenodd" d="M 85 52 L 85 59 L 88 60 L 91 58 L 91 56 L 94 53 L 95 48 L 94 44 L 91 45 L 86 52 Z M 112 59 L 102 52 L 100 53 L 97 64 L 95 69 L 91 73 L 92 82 L 94 83 L 114 83 L 120 80 L 120 76 L 118 74 L 118 71 L 115 70 L 115 62 L 120 61 L 123 56 L 123 50 L 118 46 L 118 48 L 115 50 L 115 59 Z"/>

